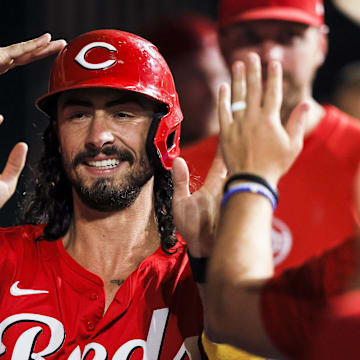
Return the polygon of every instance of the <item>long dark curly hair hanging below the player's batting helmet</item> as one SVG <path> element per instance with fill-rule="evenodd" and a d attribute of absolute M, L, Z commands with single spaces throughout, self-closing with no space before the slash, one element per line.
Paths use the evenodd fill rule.
<path fill-rule="evenodd" d="M 161 247 L 167 254 L 176 244 L 175 225 L 172 216 L 173 182 L 171 172 L 164 169 L 152 143 L 157 125 L 164 112 L 157 112 L 150 127 L 147 153 L 154 168 L 155 215 L 161 238 Z M 56 130 L 57 121 L 51 120 L 42 137 L 43 155 L 37 165 L 21 200 L 19 222 L 22 224 L 45 224 L 40 239 L 57 240 L 69 229 L 73 215 L 72 187 L 59 152 Z"/>

